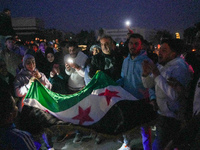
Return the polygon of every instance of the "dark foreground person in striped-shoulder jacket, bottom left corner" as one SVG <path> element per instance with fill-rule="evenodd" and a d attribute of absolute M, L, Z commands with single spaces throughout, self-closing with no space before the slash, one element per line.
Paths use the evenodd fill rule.
<path fill-rule="evenodd" d="M 18 130 L 14 119 L 18 108 L 10 93 L 0 91 L 0 149 L 36 150 L 30 133 Z"/>

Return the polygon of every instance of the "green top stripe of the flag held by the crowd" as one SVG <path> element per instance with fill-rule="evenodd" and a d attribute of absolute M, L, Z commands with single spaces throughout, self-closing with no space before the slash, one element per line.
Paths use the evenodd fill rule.
<path fill-rule="evenodd" d="M 117 86 L 117 84 L 102 71 L 97 72 L 90 83 L 81 91 L 71 95 L 54 93 L 36 80 L 31 85 L 25 97 L 25 101 L 26 99 L 36 99 L 48 110 L 52 112 L 60 112 L 76 105 L 82 99 L 90 95 L 93 90 L 105 88 L 109 85 Z"/>

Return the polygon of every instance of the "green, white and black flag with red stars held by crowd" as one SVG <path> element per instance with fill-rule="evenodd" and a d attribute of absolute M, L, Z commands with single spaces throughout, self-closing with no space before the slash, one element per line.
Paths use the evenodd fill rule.
<path fill-rule="evenodd" d="M 24 105 L 48 112 L 64 122 L 109 134 L 127 131 L 156 117 L 149 104 L 136 99 L 101 71 L 72 95 L 54 93 L 36 80 Z"/>

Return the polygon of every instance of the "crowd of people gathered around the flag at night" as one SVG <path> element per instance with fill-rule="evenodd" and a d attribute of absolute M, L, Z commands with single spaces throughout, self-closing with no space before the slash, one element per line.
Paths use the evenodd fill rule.
<path fill-rule="evenodd" d="M 158 55 L 138 33 L 129 35 L 123 49 L 116 47 L 108 35 L 101 36 L 86 51 L 73 40 L 60 41 L 59 49 L 44 41 L 38 45 L 18 45 L 12 36 L 6 37 L 4 42 L 5 48 L 0 51 L 0 148 L 36 149 L 31 135 L 13 124 L 17 112 L 23 110 L 23 98 L 35 79 L 53 92 L 73 94 L 83 89 L 98 70 L 157 111 L 154 141 L 151 127 L 141 127 L 144 150 L 182 150 L 199 145 L 195 139 L 200 131 L 197 66 L 200 55 L 196 52 L 183 57 L 182 40 L 164 39 Z M 195 128 L 191 129 L 193 124 Z M 186 133 L 192 135 L 184 136 L 183 140 Z M 80 131 L 76 131 L 75 143 L 80 142 L 80 135 Z M 119 150 L 130 150 L 131 136 L 123 134 L 122 137 Z M 97 144 L 102 140 L 97 136 Z"/>

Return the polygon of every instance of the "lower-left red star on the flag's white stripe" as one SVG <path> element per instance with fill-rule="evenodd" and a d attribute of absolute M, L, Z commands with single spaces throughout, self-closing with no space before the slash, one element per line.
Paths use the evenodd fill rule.
<path fill-rule="evenodd" d="M 89 113 L 91 111 L 91 106 L 88 107 L 86 110 L 83 110 L 80 106 L 79 106 L 79 114 L 75 117 L 73 117 L 72 119 L 76 119 L 76 120 L 80 120 L 79 124 L 82 125 L 85 121 L 94 121 L 90 116 Z"/>

